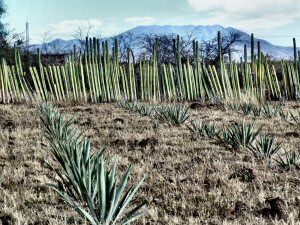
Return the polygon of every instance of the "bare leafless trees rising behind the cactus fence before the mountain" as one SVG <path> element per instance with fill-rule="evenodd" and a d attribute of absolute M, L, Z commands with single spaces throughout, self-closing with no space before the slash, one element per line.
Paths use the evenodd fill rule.
<path fill-rule="evenodd" d="M 79 47 L 81 51 L 85 50 L 85 34 L 89 35 L 90 27 L 86 32 L 83 32 L 82 28 L 79 28 L 74 38 L 79 40 Z M 174 43 L 177 38 L 177 34 L 140 34 L 135 35 L 132 32 L 127 32 L 123 35 L 117 36 L 119 43 L 119 58 L 120 61 L 126 62 L 128 58 L 128 49 L 131 54 L 130 57 L 134 62 L 138 62 L 139 59 L 151 57 L 153 54 L 153 46 L 158 44 L 157 58 L 159 63 L 175 63 Z M 113 46 L 114 40 L 111 40 L 110 45 Z M 180 37 L 180 54 L 183 61 L 187 60 L 187 56 L 193 60 L 193 40 L 197 40 L 196 32 L 191 31 Z M 222 53 L 223 55 L 229 52 L 237 52 L 237 44 L 242 43 L 241 33 L 232 31 L 222 36 Z M 218 53 L 218 40 L 217 35 L 211 40 L 201 41 L 200 56 L 205 63 L 216 64 L 219 60 Z M 53 47 L 53 46 L 52 46 Z M 58 47 L 56 47 L 58 48 Z M 55 49 L 56 49 L 55 48 Z"/>

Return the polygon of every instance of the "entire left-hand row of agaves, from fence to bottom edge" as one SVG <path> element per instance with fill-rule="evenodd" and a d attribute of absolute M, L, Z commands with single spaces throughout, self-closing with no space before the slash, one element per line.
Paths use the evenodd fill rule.
<path fill-rule="evenodd" d="M 39 105 L 44 137 L 55 163 L 48 168 L 57 175 L 50 186 L 89 224 L 130 224 L 145 214 L 141 203 L 133 199 L 144 179 L 128 187 L 132 166 L 122 176 L 117 163 L 105 159 L 102 146 L 93 149 L 91 140 L 48 103 Z"/>

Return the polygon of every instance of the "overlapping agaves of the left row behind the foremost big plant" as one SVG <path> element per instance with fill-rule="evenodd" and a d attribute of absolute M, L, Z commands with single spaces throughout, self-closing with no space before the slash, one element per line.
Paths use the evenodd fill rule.
<path fill-rule="evenodd" d="M 47 163 L 60 178 L 58 185 L 52 186 L 77 200 L 82 199 L 83 192 L 95 196 L 97 190 L 93 184 L 96 181 L 97 161 L 105 147 L 101 146 L 91 153 L 91 141 L 83 138 L 80 131 L 74 130 L 74 120 L 66 120 L 65 115 L 52 105 L 41 104 L 39 114 L 50 152 L 61 167 L 57 169 Z"/>

